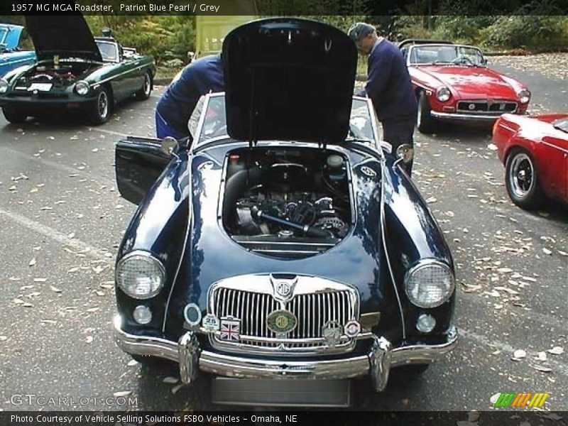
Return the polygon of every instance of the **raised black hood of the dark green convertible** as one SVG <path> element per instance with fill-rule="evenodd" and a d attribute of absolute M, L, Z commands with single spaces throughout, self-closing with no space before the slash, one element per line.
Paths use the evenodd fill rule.
<path fill-rule="evenodd" d="M 38 60 L 83 58 L 102 62 L 101 53 L 82 15 L 26 16 Z"/>

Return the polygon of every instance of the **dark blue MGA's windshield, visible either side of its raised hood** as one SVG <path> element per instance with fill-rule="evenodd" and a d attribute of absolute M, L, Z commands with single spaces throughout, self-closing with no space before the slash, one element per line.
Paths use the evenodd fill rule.
<path fill-rule="evenodd" d="M 203 99 L 203 98 L 202 98 Z M 203 107 L 202 99 L 195 107 L 190 118 L 189 127 L 191 134 L 197 131 L 197 119 L 201 114 Z M 207 104 L 207 111 L 204 111 L 205 117 L 203 126 L 198 139 L 198 143 L 209 141 L 213 138 L 226 137 L 226 113 L 225 113 L 225 97 L 212 96 Z M 351 107 L 351 119 L 349 120 L 349 133 L 346 138 L 354 138 L 359 140 L 373 141 L 373 126 L 371 124 L 371 114 L 368 111 L 368 104 L 365 99 L 353 99 Z"/>

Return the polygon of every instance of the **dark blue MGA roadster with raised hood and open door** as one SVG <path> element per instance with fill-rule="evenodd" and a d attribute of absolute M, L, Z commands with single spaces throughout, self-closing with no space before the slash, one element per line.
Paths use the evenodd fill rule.
<path fill-rule="evenodd" d="M 412 148 L 392 152 L 353 96 L 354 43 L 268 18 L 231 31 L 222 61 L 226 92 L 200 99 L 192 138 L 116 145 L 138 204 L 116 261 L 118 345 L 249 405 L 346 406 L 353 378 L 383 391 L 391 368 L 444 359 L 452 254 L 405 173 Z"/>

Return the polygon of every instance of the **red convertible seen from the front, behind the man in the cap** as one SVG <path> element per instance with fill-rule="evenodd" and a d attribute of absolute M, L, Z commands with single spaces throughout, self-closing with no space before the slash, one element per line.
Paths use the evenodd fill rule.
<path fill-rule="evenodd" d="M 525 114 L 527 87 L 490 70 L 478 48 L 432 40 L 405 40 L 399 47 L 418 99 L 421 133 L 435 131 L 437 121 L 493 124 L 504 113 Z"/>

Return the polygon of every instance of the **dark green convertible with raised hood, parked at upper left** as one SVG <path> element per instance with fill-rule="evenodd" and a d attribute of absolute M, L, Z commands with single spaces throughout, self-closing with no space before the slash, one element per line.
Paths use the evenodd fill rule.
<path fill-rule="evenodd" d="M 150 97 L 153 59 L 109 33 L 94 38 L 83 16 L 26 16 L 26 26 L 38 62 L 0 79 L 0 107 L 11 123 L 80 110 L 103 124 L 118 102 Z"/>

